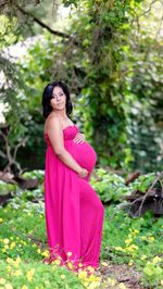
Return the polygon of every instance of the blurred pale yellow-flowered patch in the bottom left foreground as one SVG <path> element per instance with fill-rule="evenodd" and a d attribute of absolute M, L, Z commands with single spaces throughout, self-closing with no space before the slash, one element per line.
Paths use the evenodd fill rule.
<path fill-rule="evenodd" d="M 23 261 L 0 262 L 1 279 L 3 286 L 12 285 L 13 287 L 4 288 L 85 288 L 80 280 L 65 268 L 59 266 L 49 266 L 39 264 L 36 261 L 29 264 Z M 7 275 L 7 272 L 10 274 Z"/>

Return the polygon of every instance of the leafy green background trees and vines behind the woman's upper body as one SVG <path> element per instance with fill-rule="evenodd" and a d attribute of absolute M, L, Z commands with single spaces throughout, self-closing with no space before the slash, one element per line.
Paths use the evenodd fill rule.
<path fill-rule="evenodd" d="M 33 167 L 36 152 L 35 166 L 43 166 L 41 92 L 58 78 L 71 88 L 72 118 L 96 148 L 97 165 L 161 169 L 161 2 L 3 2 L 1 49 L 36 37 L 23 60 L 1 54 L 0 93 L 12 108 L 5 112 L 11 147 L 26 140 L 23 167 Z M 62 23 L 59 4 L 70 8 Z"/>

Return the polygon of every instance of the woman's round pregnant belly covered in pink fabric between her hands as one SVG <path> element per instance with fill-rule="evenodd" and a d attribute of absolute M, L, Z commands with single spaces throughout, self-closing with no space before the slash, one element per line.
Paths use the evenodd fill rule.
<path fill-rule="evenodd" d="M 87 142 L 76 143 L 71 142 L 70 153 L 76 160 L 76 162 L 88 172 L 91 172 L 96 165 L 97 154 L 95 149 Z"/>

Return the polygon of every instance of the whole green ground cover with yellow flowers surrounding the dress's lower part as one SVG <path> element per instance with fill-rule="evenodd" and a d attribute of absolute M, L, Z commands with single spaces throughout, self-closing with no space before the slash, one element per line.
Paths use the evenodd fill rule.
<path fill-rule="evenodd" d="M 32 196 L 38 199 L 32 201 Z M 17 190 L 0 208 L 0 288 L 158 288 L 163 287 L 162 218 L 147 212 L 131 218 L 117 204 L 105 205 L 101 260 L 73 272 L 73 263 L 48 265 L 42 186 Z M 71 255 L 71 252 L 70 252 Z"/>

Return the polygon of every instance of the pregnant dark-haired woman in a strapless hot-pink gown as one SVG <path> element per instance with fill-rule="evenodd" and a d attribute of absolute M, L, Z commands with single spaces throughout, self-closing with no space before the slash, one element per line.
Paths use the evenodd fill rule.
<path fill-rule="evenodd" d="M 98 268 L 104 208 L 89 184 L 97 154 L 68 117 L 73 105 L 62 81 L 42 95 L 45 139 L 45 211 L 50 257 L 78 271 Z"/>

